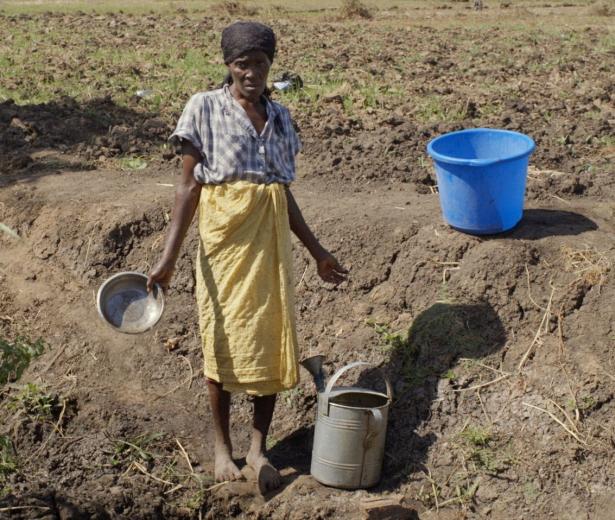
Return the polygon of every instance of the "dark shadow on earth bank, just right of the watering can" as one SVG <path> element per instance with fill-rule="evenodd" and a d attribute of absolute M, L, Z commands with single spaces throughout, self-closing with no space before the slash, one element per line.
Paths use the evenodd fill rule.
<path fill-rule="evenodd" d="M 397 395 L 389 410 L 382 479 L 374 491 L 395 490 L 424 469 L 436 435 L 416 430 L 430 420 L 441 378 L 459 358 L 481 359 L 505 342 L 502 322 L 487 302 L 435 303 L 416 317 L 407 340 L 395 346 L 383 367 Z M 358 384 L 383 391 L 381 381 L 378 371 L 369 370 Z"/>

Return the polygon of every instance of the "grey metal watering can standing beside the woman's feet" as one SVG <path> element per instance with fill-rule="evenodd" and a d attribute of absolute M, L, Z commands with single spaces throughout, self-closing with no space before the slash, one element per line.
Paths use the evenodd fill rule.
<path fill-rule="evenodd" d="M 340 368 L 325 387 L 323 359 L 324 356 L 313 356 L 301 362 L 312 374 L 318 391 L 310 472 L 327 486 L 345 489 L 374 486 L 382 470 L 391 384 L 382 374 L 386 394 L 359 387 L 335 387 L 348 370 L 373 366 L 357 361 Z"/>

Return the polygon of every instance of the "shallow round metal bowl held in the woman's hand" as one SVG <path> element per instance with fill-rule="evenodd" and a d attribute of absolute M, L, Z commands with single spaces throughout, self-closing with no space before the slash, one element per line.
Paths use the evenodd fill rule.
<path fill-rule="evenodd" d="M 135 272 L 118 273 L 106 280 L 96 297 L 101 318 L 126 334 L 151 329 L 162 316 L 164 295 L 158 284 L 148 293 L 146 284 L 147 276 Z"/>

